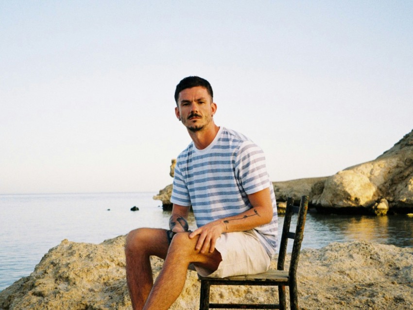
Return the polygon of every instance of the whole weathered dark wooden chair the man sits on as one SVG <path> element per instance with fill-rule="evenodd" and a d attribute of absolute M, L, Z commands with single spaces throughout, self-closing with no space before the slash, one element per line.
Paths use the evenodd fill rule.
<path fill-rule="evenodd" d="M 293 198 L 287 199 L 287 207 L 284 216 L 284 225 L 279 246 L 277 270 L 268 270 L 264 274 L 249 276 L 230 276 L 227 278 L 211 278 L 199 276 L 201 280 L 200 310 L 213 309 L 286 309 L 285 287 L 290 290 L 290 308 L 298 310 L 297 291 L 297 265 L 300 255 L 301 241 L 304 236 L 304 224 L 306 223 L 308 196 L 302 196 L 300 207 L 293 206 Z M 293 212 L 298 213 L 295 232 L 290 232 L 291 217 Z M 285 256 L 287 254 L 288 239 L 293 239 L 290 267 L 284 270 Z M 211 285 L 260 285 L 278 286 L 279 304 L 217 304 L 209 302 L 209 289 Z"/>

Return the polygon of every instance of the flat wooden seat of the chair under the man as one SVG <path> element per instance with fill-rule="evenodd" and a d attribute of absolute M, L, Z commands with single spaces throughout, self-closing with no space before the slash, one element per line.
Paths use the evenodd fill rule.
<path fill-rule="evenodd" d="M 271 285 L 272 283 L 274 283 L 274 285 L 278 285 L 280 283 L 288 283 L 290 279 L 288 276 L 288 270 L 273 269 L 258 275 L 228 276 L 226 278 L 213 278 L 198 275 L 198 278 L 200 280 L 209 281 L 211 285 L 213 285 L 214 282 L 219 282 L 220 285 L 225 285 L 225 282 L 228 282 L 227 285 L 240 285 L 239 283 L 245 284 L 248 282 L 251 282 L 250 285 L 263 285 L 264 283 L 267 283 L 267 285 Z"/>

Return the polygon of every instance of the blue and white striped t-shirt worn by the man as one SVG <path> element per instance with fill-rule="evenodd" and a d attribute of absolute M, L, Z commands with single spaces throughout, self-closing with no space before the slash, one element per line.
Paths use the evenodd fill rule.
<path fill-rule="evenodd" d="M 198 227 L 252 208 L 248 194 L 270 188 L 273 220 L 254 228 L 272 258 L 277 247 L 277 207 L 262 150 L 244 135 L 221 127 L 203 150 L 193 142 L 178 156 L 171 202 L 191 206 Z"/>

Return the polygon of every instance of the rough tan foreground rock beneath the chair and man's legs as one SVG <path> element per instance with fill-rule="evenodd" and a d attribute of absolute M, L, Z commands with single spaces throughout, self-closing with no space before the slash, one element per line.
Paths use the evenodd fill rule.
<path fill-rule="evenodd" d="M 0 309 L 130 310 L 124 242 L 125 236 L 101 244 L 62 241 L 30 276 L 0 292 Z M 159 258 L 151 259 L 155 277 L 162 263 Z M 297 278 L 302 309 L 413 309 L 412 248 L 356 241 L 306 249 Z M 199 289 L 196 273 L 188 272 L 184 290 L 170 309 L 198 309 Z M 220 302 L 237 298 L 269 303 L 276 295 L 276 288 L 211 290 L 211 299 Z"/>

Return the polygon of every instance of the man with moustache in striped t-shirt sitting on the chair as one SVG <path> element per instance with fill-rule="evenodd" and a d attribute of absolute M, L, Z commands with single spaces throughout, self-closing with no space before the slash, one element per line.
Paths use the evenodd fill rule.
<path fill-rule="evenodd" d="M 126 239 L 126 276 L 134 310 L 167 310 L 189 265 L 203 276 L 265 272 L 276 249 L 275 195 L 260 148 L 218 127 L 210 84 L 196 76 L 175 90 L 175 115 L 192 142 L 178 156 L 170 231 L 138 228 Z M 188 231 L 192 206 L 198 228 Z M 172 238 L 173 237 L 173 238 Z M 165 259 L 153 283 L 149 257 Z"/>

